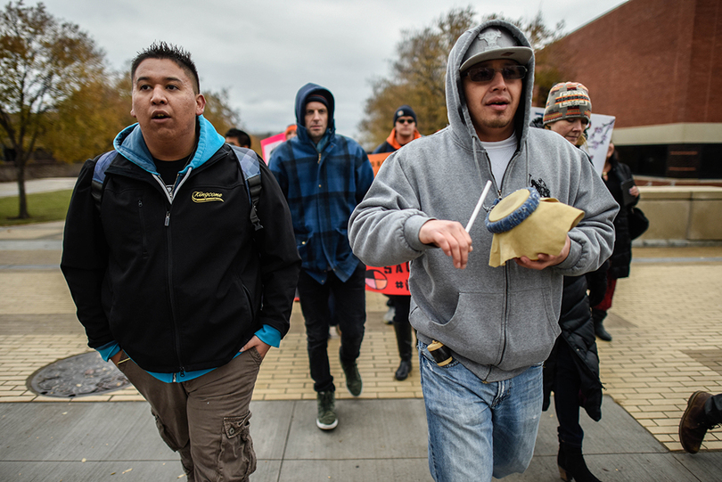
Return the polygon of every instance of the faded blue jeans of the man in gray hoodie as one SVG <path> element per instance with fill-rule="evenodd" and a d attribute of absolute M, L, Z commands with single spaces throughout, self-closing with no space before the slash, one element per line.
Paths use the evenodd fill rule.
<path fill-rule="evenodd" d="M 542 364 L 484 383 L 457 360 L 439 367 L 419 342 L 419 371 L 434 480 L 490 481 L 526 470 L 541 416 Z"/>

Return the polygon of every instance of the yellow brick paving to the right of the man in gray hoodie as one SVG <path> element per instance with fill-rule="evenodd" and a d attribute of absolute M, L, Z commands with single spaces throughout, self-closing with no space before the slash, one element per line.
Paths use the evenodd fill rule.
<path fill-rule="evenodd" d="M 605 393 L 669 450 L 682 450 L 677 425 L 690 394 L 722 392 L 721 286 L 722 262 L 635 263 L 605 322 L 613 340 L 597 342 Z M 722 431 L 704 447 L 722 449 Z"/>

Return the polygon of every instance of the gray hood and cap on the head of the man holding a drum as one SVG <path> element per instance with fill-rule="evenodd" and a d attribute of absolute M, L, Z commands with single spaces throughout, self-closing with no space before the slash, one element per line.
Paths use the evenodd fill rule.
<path fill-rule="evenodd" d="M 534 52 L 520 29 L 505 20 L 488 20 L 467 30 L 456 41 L 447 62 L 447 115 L 449 125 L 459 142 L 472 148 L 472 137 L 479 138 L 464 99 L 462 67 L 468 69 L 481 61 L 510 58 L 527 68 L 522 80 L 519 109 L 514 116 L 514 129 L 519 142 L 526 139 L 529 110 L 534 88 Z"/>

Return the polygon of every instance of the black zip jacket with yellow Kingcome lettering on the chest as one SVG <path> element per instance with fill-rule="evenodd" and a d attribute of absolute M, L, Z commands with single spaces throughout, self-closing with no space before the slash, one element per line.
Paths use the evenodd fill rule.
<path fill-rule="evenodd" d="M 115 340 L 146 371 L 188 372 L 226 364 L 263 325 L 283 338 L 300 258 L 283 193 L 259 164 L 263 229 L 254 233 L 226 144 L 186 175 L 172 203 L 150 172 L 117 155 L 100 213 L 86 162 L 61 267 L 90 347 Z"/>

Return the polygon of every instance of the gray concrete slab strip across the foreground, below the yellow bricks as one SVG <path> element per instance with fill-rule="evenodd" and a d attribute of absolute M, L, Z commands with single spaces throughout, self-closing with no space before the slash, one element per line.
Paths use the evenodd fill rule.
<path fill-rule="evenodd" d="M 421 399 L 341 400 L 339 427 L 316 429 L 315 401 L 252 402 L 254 482 L 431 481 Z M 582 420 L 585 458 L 604 481 L 719 480 L 720 453 L 670 453 L 606 396 Z M 0 404 L 0 480 L 171 481 L 182 476 L 144 402 Z M 534 459 L 505 480 L 552 482 L 556 420 L 544 413 Z"/>

